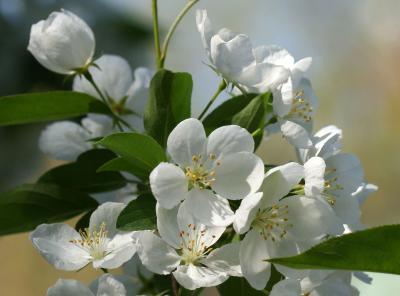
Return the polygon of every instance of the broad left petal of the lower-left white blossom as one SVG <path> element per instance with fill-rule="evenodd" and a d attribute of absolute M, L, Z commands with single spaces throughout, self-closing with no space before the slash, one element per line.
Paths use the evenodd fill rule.
<path fill-rule="evenodd" d="M 90 255 L 71 243 L 81 236 L 66 224 L 41 224 L 30 234 L 35 248 L 57 269 L 79 270 L 90 261 Z"/>

